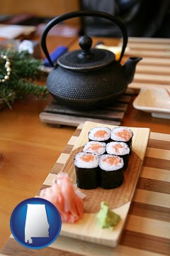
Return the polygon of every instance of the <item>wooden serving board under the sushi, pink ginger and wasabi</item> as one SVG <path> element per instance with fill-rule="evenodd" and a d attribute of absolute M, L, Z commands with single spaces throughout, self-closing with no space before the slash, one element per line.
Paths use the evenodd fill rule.
<path fill-rule="evenodd" d="M 88 142 L 89 130 L 93 127 L 102 126 L 113 128 L 111 125 L 85 122 L 81 134 L 79 135 L 79 138 L 72 149 L 69 159 L 60 170 L 67 172 L 74 183 L 76 182 L 74 156 L 78 151 L 81 151 L 82 147 L 86 144 L 86 142 Z M 123 182 L 123 185 L 109 190 L 102 188 L 81 190 L 86 194 L 86 198 L 84 198 L 84 218 L 75 224 L 62 223 L 62 235 L 70 238 L 77 238 L 103 245 L 109 245 L 112 247 L 118 245 L 118 241 L 128 215 L 128 210 L 130 208 L 130 203 L 132 202 L 132 197 L 135 192 L 137 180 L 140 176 L 140 169 L 149 139 L 148 128 L 130 127 L 130 129 L 132 129 L 132 132 L 134 132 L 132 139 L 132 154 L 130 156 L 128 169 L 124 171 L 125 181 Z M 55 178 L 55 175 L 50 175 L 45 181 L 47 186 L 51 185 L 52 178 Z M 110 208 L 118 213 L 121 217 L 120 223 L 118 223 L 114 230 L 102 229 L 97 224 L 96 213 L 98 213 L 98 210 L 100 209 L 101 201 L 106 201 Z"/>

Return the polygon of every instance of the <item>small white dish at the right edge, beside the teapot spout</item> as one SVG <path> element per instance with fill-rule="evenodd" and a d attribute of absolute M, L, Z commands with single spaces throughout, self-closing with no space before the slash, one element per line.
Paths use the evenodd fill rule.
<path fill-rule="evenodd" d="M 133 107 L 152 113 L 152 117 L 170 119 L 170 91 L 159 87 L 142 88 Z"/>

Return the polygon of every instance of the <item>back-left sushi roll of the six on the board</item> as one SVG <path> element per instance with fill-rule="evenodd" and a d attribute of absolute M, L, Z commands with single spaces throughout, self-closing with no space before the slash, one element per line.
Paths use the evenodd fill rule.
<path fill-rule="evenodd" d="M 88 138 L 89 141 L 106 142 L 110 141 L 111 129 L 108 127 L 95 127 L 90 129 Z"/>

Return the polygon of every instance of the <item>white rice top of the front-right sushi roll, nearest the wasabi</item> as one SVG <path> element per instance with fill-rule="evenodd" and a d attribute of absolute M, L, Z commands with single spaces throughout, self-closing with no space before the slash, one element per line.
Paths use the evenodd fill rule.
<path fill-rule="evenodd" d="M 118 164 L 111 164 L 110 158 L 118 159 Z M 110 154 L 104 154 L 99 158 L 99 167 L 104 171 L 115 171 L 123 168 L 124 161 L 120 156 L 112 156 Z"/>

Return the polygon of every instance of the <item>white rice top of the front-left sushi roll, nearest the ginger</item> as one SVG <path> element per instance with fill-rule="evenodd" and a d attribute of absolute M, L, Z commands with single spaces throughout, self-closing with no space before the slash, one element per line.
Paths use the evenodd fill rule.
<path fill-rule="evenodd" d="M 91 161 L 85 161 L 86 156 L 92 156 Z M 91 153 L 79 152 L 74 157 L 74 164 L 78 168 L 96 168 L 98 166 L 98 155 Z"/>

